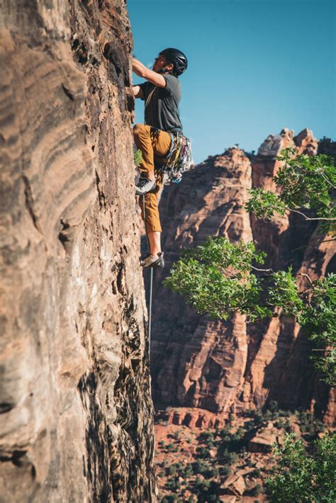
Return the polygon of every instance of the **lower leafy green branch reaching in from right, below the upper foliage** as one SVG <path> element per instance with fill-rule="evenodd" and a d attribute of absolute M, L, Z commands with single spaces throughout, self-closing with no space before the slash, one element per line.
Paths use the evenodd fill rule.
<path fill-rule="evenodd" d="M 227 320 L 233 312 L 246 315 L 249 322 L 280 312 L 296 317 L 323 350 L 315 356 L 318 367 L 329 383 L 335 383 L 336 275 L 309 281 L 309 288 L 300 291 L 291 268 L 274 272 L 253 265 L 264 264 L 265 256 L 252 242 L 234 244 L 225 237 L 209 237 L 184 251 L 164 284 L 184 295 L 198 313 L 215 319 Z"/>

